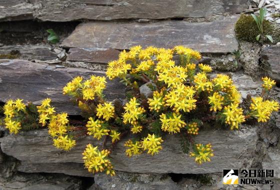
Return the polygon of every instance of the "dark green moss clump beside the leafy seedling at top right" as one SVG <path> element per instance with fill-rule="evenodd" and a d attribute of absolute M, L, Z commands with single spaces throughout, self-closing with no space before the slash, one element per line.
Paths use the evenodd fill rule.
<path fill-rule="evenodd" d="M 263 20 L 263 33 L 271 35 L 274 42 L 277 42 L 280 39 L 279 29 L 267 20 Z M 259 30 L 251 15 L 242 14 L 239 17 L 235 23 L 235 34 L 239 40 L 250 42 L 256 41 L 255 38 L 259 34 Z M 263 41 L 268 42 L 268 39 L 263 38 Z"/>

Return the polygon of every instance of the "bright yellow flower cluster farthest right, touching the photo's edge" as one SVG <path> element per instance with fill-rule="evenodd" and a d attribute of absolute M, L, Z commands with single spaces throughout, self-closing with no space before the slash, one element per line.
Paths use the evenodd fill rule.
<path fill-rule="evenodd" d="M 263 100 L 262 97 L 252 97 L 250 114 L 257 118 L 258 122 L 266 122 L 272 111 L 279 109 L 279 103 L 275 100 Z"/>

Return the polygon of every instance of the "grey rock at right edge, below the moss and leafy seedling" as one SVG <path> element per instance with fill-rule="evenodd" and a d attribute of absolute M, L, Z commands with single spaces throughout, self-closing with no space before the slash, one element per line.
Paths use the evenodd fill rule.
<path fill-rule="evenodd" d="M 268 67 L 269 76 L 280 84 L 280 46 L 271 45 L 261 49 L 261 62 Z"/>

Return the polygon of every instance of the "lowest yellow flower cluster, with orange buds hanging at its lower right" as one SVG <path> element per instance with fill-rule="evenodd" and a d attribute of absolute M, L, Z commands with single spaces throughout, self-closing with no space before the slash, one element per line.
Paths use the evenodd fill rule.
<path fill-rule="evenodd" d="M 93 173 L 105 171 L 106 174 L 115 175 L 111 161 L 108 159 L 109 154 L 110 151 L 107 149 L 99 151 L 97 146 L 93 147 L 92 144 L 87 144 L 82 153 L 85 168 Z"/>

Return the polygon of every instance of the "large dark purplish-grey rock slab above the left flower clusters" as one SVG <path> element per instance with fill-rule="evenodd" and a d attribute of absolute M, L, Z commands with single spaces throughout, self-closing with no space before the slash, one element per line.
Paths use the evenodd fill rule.
<path fill-rule="evenodd" d="M 74 76 L 88 77 L 91 74 L 104 75 L 102 71 L 91 71 L 83 68 L 50 68 L 46 63 L 35 63 L 27 60 L 13 59 L 0 63 L 0 101 L 22 98 L 39 104 L 46 97 L 52 99 L 56 111 L 79 114 L 80 110 L 70 97 L 62 94 L 63 86 Z M 124 98 L 125 87 L 118 80 L 108 80 L 104 90 L 106 98 Z"/>

